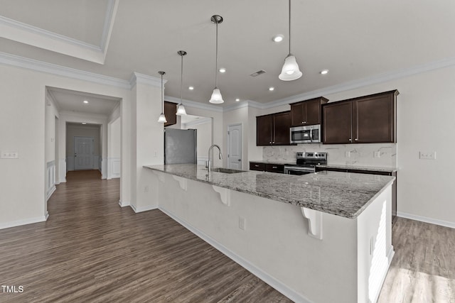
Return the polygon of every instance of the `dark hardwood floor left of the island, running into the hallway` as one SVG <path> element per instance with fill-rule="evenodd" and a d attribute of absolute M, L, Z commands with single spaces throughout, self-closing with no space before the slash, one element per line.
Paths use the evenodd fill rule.
<path fill-rule="evenodd" d="M 0 302 L 291 302 L 159 210 L 121 208 L 119 180 L 68 172 L 48 221 L 0 230 Z"/>

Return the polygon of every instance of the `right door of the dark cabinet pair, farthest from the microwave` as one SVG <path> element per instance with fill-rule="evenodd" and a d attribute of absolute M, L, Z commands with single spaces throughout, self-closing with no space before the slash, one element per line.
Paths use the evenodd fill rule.
<path fill-rule="evenodd" d="M 353 102 L 355 143 L 392 143 L 394 136 L 394 101 L 387 94 Z"/>

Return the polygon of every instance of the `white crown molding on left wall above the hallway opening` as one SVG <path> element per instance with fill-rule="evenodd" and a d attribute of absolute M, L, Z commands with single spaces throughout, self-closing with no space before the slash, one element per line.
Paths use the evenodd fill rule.
<path fill-rule="evenodd" d="M 20 57 L 11 55 L 8 53 L 0 53 L 0 64 L 12 65 L 15 67 L 22 67 L 28 70 L 35 70 L 37 72 L 45 72 L 52 75 L 58 75 L 63 77 L 69 77 L 73 79 L 80 79 L 89 82 L 95 82 L 98 84 L 105 84 L 113 87 L 120 87 L 123 89 L 130 89 L 129 82 L 114 77 L 108 77 L 105 75 L 95 74 L 93 72 L 85 72 L 82 70 L 76 70 L 70 67 L 63 67 L 61 65 L 55 65 L 48 62 L 28 59 L 26 57 Z"/>

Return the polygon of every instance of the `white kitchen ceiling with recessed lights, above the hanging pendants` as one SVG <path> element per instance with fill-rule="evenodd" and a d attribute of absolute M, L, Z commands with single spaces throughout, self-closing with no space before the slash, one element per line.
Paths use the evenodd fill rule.
<path fill-rule="evenodd" d="M 16 33 L 17 23 L 6 19 L 0 20 L 0 52 L 125 80 L 132 72 L 159 78 L 164 70 L 166 96 L 180 98 L 177 51 L 186 50 L 183 99 L 208 104 L 215 86 L 210 16 L 219 14 L 224 22 L 218 27 L 218 65 L 227 69 L 218 74 L 225 100 L 220 106 L 235 104 L 235 98 L 267 103 L 441 60 L 454 62 L 455 1 L 292 0 L 291 6 L 291 53 L 304 73 L 291 82 L 278 79 L 288 54 L 286 0 L 0 0 L 0 16 L 9 21 L 45 30 L 38 31 L 41 38 L 50 32 L 67 36 L 68 45 L 75 40 L 95 45 L 102 55 L 90 60 L 83 48 L 74 53 L 45 38 L 43 46 L 37 36 Z M 272 42 L 277 34 L 284 35 L 282 43 Z M 328 75 L 319 74 L 324 69 Z M 257 70 L 267 73 L 250 77 Z M 189 91 L 189 85 L 195 89 Z"/>

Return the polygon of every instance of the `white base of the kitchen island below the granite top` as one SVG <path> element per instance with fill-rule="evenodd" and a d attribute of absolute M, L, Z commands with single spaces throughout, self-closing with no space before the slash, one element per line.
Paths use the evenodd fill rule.
<path fill-rule="evenodd" d="M 299 206 L 153 173 L 162 211 L 289 299 L 378 299 L 393 256 L 390 186 L 356 219 L 321 213 L 319 240 Z"/>

